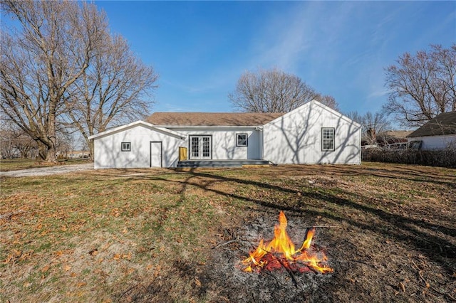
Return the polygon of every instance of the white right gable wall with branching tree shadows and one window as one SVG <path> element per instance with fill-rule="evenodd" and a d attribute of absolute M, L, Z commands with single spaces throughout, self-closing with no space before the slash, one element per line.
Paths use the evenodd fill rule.
<path fill-rule="evenodd" d="M 321 151 L 321 128 L 335 130 L 335 150 Z M 264 125 L 263 159 L 275 164 L 361 164 L 361 127 L 309 102 Z"/>

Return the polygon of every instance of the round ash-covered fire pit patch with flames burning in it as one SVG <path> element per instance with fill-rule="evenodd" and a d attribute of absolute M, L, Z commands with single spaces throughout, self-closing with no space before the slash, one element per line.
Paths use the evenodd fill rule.
<path fill-rule="evenodd" d="M 265 213 L 270 214 L 268 210 L 252 212 L 244 224 L 221 230 L 221 241 L 208 261 L 196 266 L 195 272 L 185 267 L 185 275 L 197 276 L 200 296 L 217 298 L 217 302 L 331 302 L 327 290 L 333 289 L 334 275 L 340 274 L 343 265 L 332 250 L 326 261 L 328 240 L 314 243 L 318 227 L 306 230 L 304 226 L 314 224 L 307 224 L 301 214 L 290 216 L 287 222 L 280 213 L 277 224 L 275 215 Z M 295 246 L 299 238 L 304 243 Z M 328 262 L 338 270 L 333 272 Z"/>

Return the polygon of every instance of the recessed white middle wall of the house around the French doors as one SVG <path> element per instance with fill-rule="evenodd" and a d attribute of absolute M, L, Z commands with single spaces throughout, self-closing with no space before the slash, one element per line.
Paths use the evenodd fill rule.
<path fill-rule="evenodd" d="M 237 127 L 227 129 L 223 127 L 206 127 L 201 129 L 184 130 L 177 127 L 168 127 L 175 132 L 187 135 L 187 139 L 180 146 L 187 147 L 190 153 L 190 136 L 212 137 L 212 160 L 245 160 L 261 159 L 260 134 L 252 127 Z M 247 134 L 247 147 L 236 146 L 236 134 Z"/>

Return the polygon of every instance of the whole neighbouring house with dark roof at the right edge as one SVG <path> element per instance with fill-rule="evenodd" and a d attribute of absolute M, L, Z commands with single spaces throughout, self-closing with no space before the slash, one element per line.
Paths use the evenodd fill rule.
<path fill-rule="evenodd" d="M 413 149 L 445 149 L 456 147 L 456 112 L 444 112 L 408 136 Z"/>

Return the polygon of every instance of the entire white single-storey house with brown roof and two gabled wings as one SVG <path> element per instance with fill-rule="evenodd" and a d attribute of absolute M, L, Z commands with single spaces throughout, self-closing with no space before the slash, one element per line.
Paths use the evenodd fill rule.
<path fill-rule="evenodd" d="M 180 151 L 187 161 L 361 164 L 361 125 L 315 100 L 287 113 L 156 112 L 89 139 L 95 169 L 177 167 Z"/>

